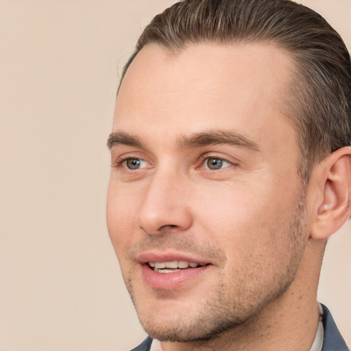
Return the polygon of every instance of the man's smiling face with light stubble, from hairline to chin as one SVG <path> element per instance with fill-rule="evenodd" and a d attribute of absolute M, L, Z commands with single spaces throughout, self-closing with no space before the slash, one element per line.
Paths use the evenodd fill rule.
<path fill-rule="evenodd" d="M 272 45 L 141 50 L 109 139 L 107 221 L 141 323 L 208 339 L 257 317 L 293 281 L 308 235 L 298 147 Z"/>

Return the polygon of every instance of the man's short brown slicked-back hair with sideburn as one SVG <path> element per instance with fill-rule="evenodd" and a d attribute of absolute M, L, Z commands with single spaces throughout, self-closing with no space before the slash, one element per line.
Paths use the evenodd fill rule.
<path fill-rule="evenodd" d="M 317 12 L 290 0 L 180 1 L 145 27 L 121 82 L 146 45 L 178 52 L 198 43 L 273 43 L 291 54 L 293 75 L 282 109 L 297 134 L 305 184 L 313 165 L 351 145 L 350 54 Z"/>

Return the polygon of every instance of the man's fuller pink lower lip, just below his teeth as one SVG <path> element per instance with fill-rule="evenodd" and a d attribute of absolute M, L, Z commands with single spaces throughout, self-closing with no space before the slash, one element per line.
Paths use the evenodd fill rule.
<path fill-rule="evenodd" d="M 197 268 L 186 268 L 180 271 L 174 271 L 171 273 L 158 273 L 151 269 L 149 265 L 142 265 L 143 280 L 149 287 L 162 290 L 174 290 L 178 289 L 187 283 L 191 282 L 210 266 L 206 265 Z"/>

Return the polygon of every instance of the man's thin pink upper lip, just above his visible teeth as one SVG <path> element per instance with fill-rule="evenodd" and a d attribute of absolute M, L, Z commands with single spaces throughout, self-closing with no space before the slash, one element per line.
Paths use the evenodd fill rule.
<path fill-rule="evenodd" d="M 206 258 L 199 258 L 197 255 L 184 252 L 141 252 L 136 256 L 136 261 L 142 265 L 147 262 L 172 262 L 172 261 L 187 261 L 198 263 L 199 265 L 208 265 L 211 263 Z"/>

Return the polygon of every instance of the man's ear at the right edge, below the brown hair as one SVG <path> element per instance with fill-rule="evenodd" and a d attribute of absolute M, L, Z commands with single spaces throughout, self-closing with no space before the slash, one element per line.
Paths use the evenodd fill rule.
<path fill-rule="evenodd" d="M 315 178 L 321 196 L 313 208 L 310 237 L 327 239 L 351 215 L 351 147 L 342 147 L 324 159 Z"/>

